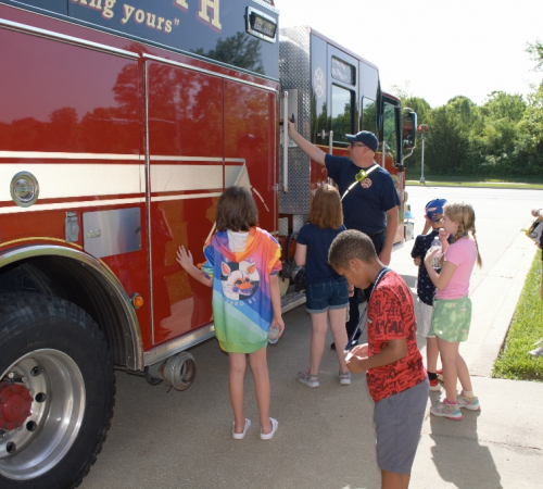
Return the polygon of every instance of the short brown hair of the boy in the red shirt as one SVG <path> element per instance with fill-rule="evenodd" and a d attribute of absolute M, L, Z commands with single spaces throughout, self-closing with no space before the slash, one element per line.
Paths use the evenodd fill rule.
<path fill-rule="evenodd" d="M 349 261 L 358 259 L 365 263 L 377 260 L 375 246 L 368 235 L 348 229 L 336 236 L 328 251 L 328 263 L 332 268 L 349 268 Z"/>

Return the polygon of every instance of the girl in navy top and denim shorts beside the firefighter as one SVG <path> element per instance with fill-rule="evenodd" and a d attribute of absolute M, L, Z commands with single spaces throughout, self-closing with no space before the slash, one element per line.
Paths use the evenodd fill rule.
<path fill-rule="evenodd" d="M 345 315 L 349 305 L 346 280 L 328 264 L 328 250 L 333 238 L 345 230 L 338 190 L 325 184 L 317 188 L 310 210 L 308 223 L 298 235 L 294 260 L 305 265 L 306 309 L 311 314 L 313 333 L 310 348 L 310 368 L 298 374 L 298 380 L 318 387 L 318 366 L 325 350 L 328 318 L 336 344 L 346 346 Z M 337 349 L 340 385 L 351 384 L 343 348 Z"/>

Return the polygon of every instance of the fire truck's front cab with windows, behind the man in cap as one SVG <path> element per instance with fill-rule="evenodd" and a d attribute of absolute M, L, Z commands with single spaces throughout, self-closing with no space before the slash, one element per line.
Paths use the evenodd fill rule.
<path fill-rule="evenodd" d="M 391 174 L 401 202 L 394 249 L 402 247 L 413 238 L 403 160 L 411 155 L 404 152 L 413 151 L 416 114 L 411 109 L 402 113 L 400 99 L 381 90 L 375 64 L 315 29 L 282 28 L 279 39 L 281 118 L 294 117 L 305 139 L 341 156 L 349 156 L 346 134 L 369 130 L 378 137 L 376 162 Z M 307 220 L 312 192 L 328 181 L 328 174 L 285 133 L 279 174 L 279 235 L 289 236 L 283 275 L 295 277 L 292 238 Z"/>

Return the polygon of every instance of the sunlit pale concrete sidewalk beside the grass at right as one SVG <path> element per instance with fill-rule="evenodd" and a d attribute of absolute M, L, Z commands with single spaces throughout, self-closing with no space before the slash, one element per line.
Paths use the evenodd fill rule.
<path fill-rule="evenodd" d="M 472 291 L 472 323 L 460 351 L 482 408 L 463 410 L 462 422 L 427 415 L 412 487 L 543 487 L 543 384 L 492 378 L 533 256 L 533 243 L 519 234 Z"/>

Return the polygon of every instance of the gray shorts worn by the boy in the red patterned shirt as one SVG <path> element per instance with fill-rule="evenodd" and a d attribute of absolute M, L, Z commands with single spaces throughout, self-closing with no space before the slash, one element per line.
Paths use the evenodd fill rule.
<path fill-rule="evenodd" d="M 428 404 L 428 378 L 376 402 L 377 464 L 381 471 L 411 474 Z"/>

